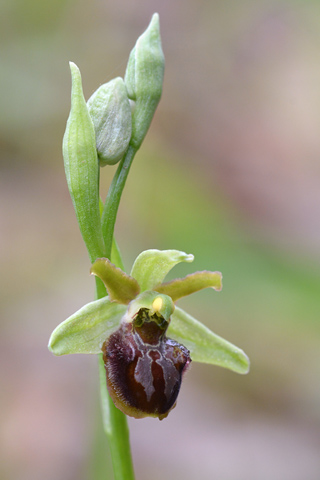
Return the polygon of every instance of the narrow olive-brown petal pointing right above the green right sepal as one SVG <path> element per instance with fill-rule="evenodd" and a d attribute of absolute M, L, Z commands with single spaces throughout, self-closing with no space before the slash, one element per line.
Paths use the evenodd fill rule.
<path fill-rule="evenodd" d="M 153 290 L 169 295 L 176 302 L 179 298 L 209 287 L 220 292 L 222 289 L 222 275 L 220 272 L 204 271 L 191 273 L 184 278 L 176 278 L 171 282 L 157 285 Z"/>

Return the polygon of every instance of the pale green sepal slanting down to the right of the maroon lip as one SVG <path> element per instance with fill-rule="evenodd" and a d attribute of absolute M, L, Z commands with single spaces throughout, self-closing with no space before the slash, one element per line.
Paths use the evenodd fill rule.
<path fill-rule="evenodd" d="M 240 348 L 211 332 L 181 308 L 176 307 L 172 314 L 167 335 L 187 347 L 194 362 L 219 365 L 242 374 L 249 371 L 249 359 Z"/>

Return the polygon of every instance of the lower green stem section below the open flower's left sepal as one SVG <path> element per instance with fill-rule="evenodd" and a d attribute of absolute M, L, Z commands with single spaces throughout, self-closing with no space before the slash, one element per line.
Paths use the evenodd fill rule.
<path fill-rule="evenodd" d="M 108 437 L 115 480 L 134 480 L 127 417 L 111 400 L 106 385 L 106 370 L 99 355 L 99 376 L 103 428 Z"/>

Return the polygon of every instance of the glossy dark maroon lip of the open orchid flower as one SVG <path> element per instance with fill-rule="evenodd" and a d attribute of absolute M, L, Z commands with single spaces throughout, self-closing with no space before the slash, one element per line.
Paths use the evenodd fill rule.
<path fill-rule="evenodd" d="M 187 348 L 165 336 L 168 325 L 141 308 L 103 344 L 108 390 L 126 415 L 162 420 L 175 407 L 191 359 Z"/>

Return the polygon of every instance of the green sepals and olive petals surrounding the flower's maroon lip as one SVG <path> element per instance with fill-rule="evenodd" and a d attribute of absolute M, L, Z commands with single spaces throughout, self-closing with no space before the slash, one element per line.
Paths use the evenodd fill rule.
<path fill-rule="evenodd" d="M 192 260 L 192 255 L 177 250 L 147 250 L 137 257 L 128 275 L 108 259 L 98 259 L 91 273 L 104 282 L 109 297 L 89 303 L 61 323 L 51 335 L 49 349 L 55 355 L 101 353 L 103 343 L 121 321 L 131 322 L 146 308 L 170 321 L 168 336 L 185 345 L 193 361 L 247 373 L 249 359 L 241 349 L 174 306 L 174 301 L 203 288 L 222 288 L 220 272 L 197 272 L 163 283 L 174 265 Z"/>

